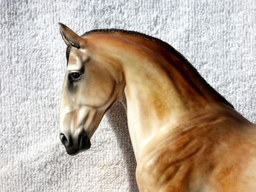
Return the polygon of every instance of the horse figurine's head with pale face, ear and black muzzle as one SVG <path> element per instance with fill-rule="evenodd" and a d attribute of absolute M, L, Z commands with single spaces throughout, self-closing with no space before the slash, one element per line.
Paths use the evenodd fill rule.
<path fill-rule="evenodd" d="M 90 148 L 90 138 L 105 112 L 121 90 L 123 82 L 112 59 L 98 54 L 92 40 L 59 23 L 68 45 L 67 70 L 60 102 L 60 140 L 69 155 Z M 104 52 L 104 51 L 103 51 Z"/>

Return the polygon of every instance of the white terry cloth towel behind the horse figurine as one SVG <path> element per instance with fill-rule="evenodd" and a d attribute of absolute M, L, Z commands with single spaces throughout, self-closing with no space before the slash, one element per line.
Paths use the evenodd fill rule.
<path fill-rule="evenodd" d="M 0 4 L 0 191 L 138 191 L 119 103 L 102 120 L 89 151 L 71 157 L 60 143 L 66 46 L 57 22 L 80 35 L 123 28 L 167 41 L 256 123 L 254 0 Z"/>

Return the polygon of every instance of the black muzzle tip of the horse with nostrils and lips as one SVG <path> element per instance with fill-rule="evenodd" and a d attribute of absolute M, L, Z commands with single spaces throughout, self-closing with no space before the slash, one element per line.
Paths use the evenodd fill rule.
<path fill-rule="evenodd" d="M 72 138 L 71 136 L 66 137 L 61 133 L 60 140 L 65 146 L 68 155 L 77 155 L 78 153 L 90 148 L 90 139 L 84 132 L 80 133 L 77 138 Z"/>

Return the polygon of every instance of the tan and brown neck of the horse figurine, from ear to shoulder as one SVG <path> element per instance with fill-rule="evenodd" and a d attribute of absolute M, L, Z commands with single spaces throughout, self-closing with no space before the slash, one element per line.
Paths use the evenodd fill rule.
<path fill-rule="evenodd" d="M 152 138 L 184 118 L 201 111 L 207 114 L 205 108 L 218 102 L 229 105 L 170 45 L 119 33 L 89 36 L 92 52 L 105 65 L 120 69 L 125 78 L 118 99 L 127 109 L 137 160 Z"/>

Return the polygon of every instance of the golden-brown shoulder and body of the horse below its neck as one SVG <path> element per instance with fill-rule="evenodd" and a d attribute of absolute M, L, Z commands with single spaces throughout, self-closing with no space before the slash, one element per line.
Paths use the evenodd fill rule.
<path fill-rule="evenodd" d="M 138 161 L 140 191 L 253 191 L 256 127 L 216 123 L 156 139 Z M 254 181 L 254 182 L 253 182 Z"/>

